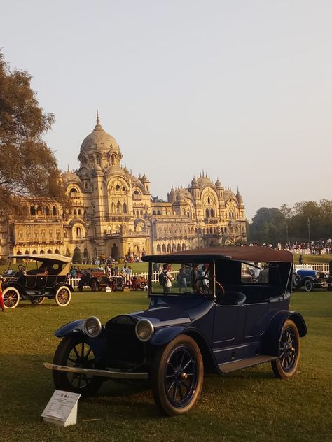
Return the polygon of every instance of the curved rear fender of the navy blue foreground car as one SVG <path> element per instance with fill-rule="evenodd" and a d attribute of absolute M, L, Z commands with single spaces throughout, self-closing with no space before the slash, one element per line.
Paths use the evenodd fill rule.
<path fill-rule="evenodd" d="M 286 320 L 292 320 L 296 327 L 298 327 L 298 334 L 302 338 L 307 334 L 307 325 L 303 316 L 296 311 L 279 311 L 270 321 L 268 329 L 264 334 L 264 352 L 266 355 L 278 356 L 279 353 L 279 338 L 282 333 L 282 327 Z"/>

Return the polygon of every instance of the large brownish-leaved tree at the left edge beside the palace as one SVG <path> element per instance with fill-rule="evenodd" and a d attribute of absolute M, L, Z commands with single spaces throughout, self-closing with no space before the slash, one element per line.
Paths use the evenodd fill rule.
<path fill-rule="evenodd" d="M 55 121 L 43 113 L 31 89 L 31 76 L 13 70 L 0 52 L 0 206 L 18 208 L 18 197 L 62 197 L 60 171 L 41 136 Z"/>

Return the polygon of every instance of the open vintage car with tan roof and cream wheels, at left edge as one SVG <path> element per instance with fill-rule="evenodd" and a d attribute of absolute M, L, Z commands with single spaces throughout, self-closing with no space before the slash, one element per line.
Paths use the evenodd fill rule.
<path fill-rule="evenodd" d="M 67 283 L 71 262 L 62 255 L 11 255 L 8 269 L 2 273 L 2 296 L 6 308 L 15 308 L 20 299 L 41 304 L 45 298 L 55 299 L 58 306 L 67 306 L 73 287 Z M 20 262 L 18 269 L 13 265 Z"/>

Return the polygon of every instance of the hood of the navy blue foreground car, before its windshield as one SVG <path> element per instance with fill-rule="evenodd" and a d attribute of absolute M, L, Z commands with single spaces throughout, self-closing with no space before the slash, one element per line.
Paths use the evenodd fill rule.
<path fill-rule="evenodd" d="M 191 318 L 185 311 L 173 306 L 149 308 L 145 311 L 130 313 L 130 316 L 137 318 L 137 320 L 148 319 L 156 328 L 165 327 L 166 325 L 189 324 L 191 322 Z"/>

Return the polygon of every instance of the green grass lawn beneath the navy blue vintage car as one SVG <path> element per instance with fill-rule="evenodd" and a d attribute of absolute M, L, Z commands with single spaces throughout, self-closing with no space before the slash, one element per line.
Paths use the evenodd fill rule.
<path fill-rule="evenodd" d="M 42 422 L 53 394 L 51 362 L 57 327 L 97 315 L 102 322 L 147 306 L 143 292 L 74 293 L 60 308 L 46 300 L 0 311 L 0 441 L 331 441 L 332 294 L 293 294 L 291 308 L 307 321 L 296 376 L 277 380 L 270 365 L 228 376 L 205 376 L 191 413 L 161 417 L 150 390 L 108 381 L 78 402 L 78 423 L 60 428 Z"/>

